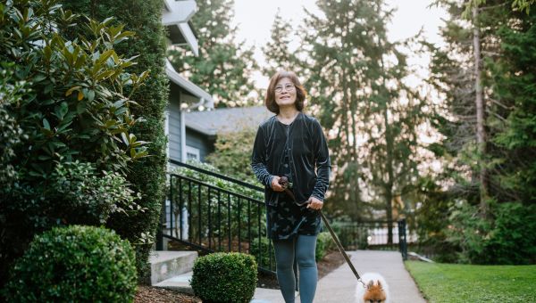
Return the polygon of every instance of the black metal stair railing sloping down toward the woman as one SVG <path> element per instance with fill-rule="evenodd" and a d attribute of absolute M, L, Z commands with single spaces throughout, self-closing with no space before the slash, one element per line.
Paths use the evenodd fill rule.
<path fill-rule="evenodd" d="M 237 188 L 263 188 L 203 168 L 172 161 L 177 166 L 237 184 L 235 192 L 182 174 L 169 174 L 169 192 L 163 206 L 161 236 L 204 252 L 237 251 L 255 256 L 259 270 L 275 273 L 272 242 L 266 238 L 264 201 Z M 257 194 L 258 196 L 258 194 Z"/>

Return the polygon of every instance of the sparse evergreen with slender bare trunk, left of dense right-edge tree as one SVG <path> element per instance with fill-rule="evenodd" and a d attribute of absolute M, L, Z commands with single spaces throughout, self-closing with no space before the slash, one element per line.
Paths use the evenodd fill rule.
<path fill-rule="evenodd" d="M 441 35 L 447 46 L 431 46 L 430 83 L 445 96 L 448 117 L 438 117 L 440 132 L 447 137 L 445 151 L 457 162 L 452 176 L 456 192 L 486 209 L 488 178 L 486 172 L 485 112 L 488 99 L 482 79 L 482 62 L 497 52 L 492 32 L 482 27 L 489 12 L 476 9 L 465 13 L 463 1 L 440 1 L 450 15 Z M 464 17 L 466 15 L 466 17 Z M 476 50 L 476 52 L 475 52 Z M 466 176 L 471 176 L 466 178 Z"/>

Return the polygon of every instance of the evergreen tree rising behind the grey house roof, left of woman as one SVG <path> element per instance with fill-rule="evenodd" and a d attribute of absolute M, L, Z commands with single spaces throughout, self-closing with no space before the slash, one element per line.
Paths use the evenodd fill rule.
<path fill-rule="evenodd" d="M 253 49 L 235 41 L 237 28 L 230 25 L 233 0 L 197 1 L 192 17 L 199 55 L 179 47 L 168 53 L 173 67 L 213 95 L 219 107 L 255 102 L 252 72 L 257 68 Z"/>

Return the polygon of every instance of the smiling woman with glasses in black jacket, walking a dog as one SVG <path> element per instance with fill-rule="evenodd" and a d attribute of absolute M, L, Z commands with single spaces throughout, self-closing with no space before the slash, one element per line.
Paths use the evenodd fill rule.
<path fill-rule="evenodd" d="M 267 233 L 287 303 L 294 302 L 295 258 L 301 302 L 314 299 L 318 277 L 314 251 L 322 228 L 317 210 L 322 209 L 331 169 L 320 123 L 302 112 L 305 99 L 306 91 L 293 72 L 280 71 L 271 78 L 264 103 L 275 115 L 259 127 L 251 157 L 255 176 L 265 186 Z M 292 194 L 281 186 L 281 176 L 288 178 Z"/>

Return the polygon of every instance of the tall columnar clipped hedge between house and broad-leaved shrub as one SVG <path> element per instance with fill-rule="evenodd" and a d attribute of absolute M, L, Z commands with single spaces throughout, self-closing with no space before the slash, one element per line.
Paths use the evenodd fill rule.
<path fill-rule="evenodd" d="M 160 218 L 167 163 L 166 137 L 163 130 L 163 111 L 168 96 L 168 79 L 164 71 L 166 45 L 162 25 L 163 4 L 160 0 L 64 0 L 63 4 L 74 12 L 86 13 L 96 20 L 114 16 L 116 22 L 134 31 L 136 38 L 126 41 L 120 46 L 120 50 L 127 57 L 139 55 L 138 64 L 133 66 L 132 70 L 150 70 L 146 85 L 141 86 L 131 96 L 132 100 L 138 103 L 138 106 L 132 106 L 132 112 L 144 117 L 144 121 L 135 127 L 137 137 L 138 140 L 148 142 L 147 152 L 150 157 L 130 166 L 127 175 L 135 190 L 142 194 L 143 198 L 139 204 L 147 211 L 126 219 L 113 217 L 108 223 L 131 243 L 143 243 L 136 246 L 138 276 L 143 279 L 150 274 L 147 270 L 152 244 L 150 239 L 156 233 Z M 73 31 L 72 34 L 78 36 L 81 29 L 75 28 Z"/>

